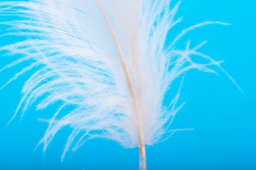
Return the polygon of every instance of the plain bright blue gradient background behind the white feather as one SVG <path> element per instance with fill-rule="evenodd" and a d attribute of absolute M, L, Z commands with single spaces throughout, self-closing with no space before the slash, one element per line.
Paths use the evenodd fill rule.
<path fill-rule="evenodd" d="M 179 46 L 191 39 L 192 46 L 209 43 L 201 52 L 224 59 L 224 69 L 234 77 L 244 94 L 218 69 L 220 75 L 190 71 L 185 76 L 181 100 L 185 107 L 172 128 L 195 128 L 147 148 L 148 169 L 256 169 L 256 1 L 183 1 L 178 15 L 184 22 L 174 28 L 169 39 L 182 28 L 205 20 L 221 20 L 232 26 L 207 26 L 188 34 Z M 2 30 L 3 26 L 0 26 Z M 12 40 L 0 38 L 0 45 Z M 1 53 L 2 54 L 2 53 Z M 6 60 L 0 59 L 0 67 Z M 18 70 L 18 69 L 17 69 Z M 1 73 L 0 84 L 15 71 Z M 106 140 L 90 140 L 74 155 L 60 157 L 70 130 L 57 134 L 46 153 L 34 151 L 55 107 L 28 110 L 24 120 L 16 118 L 7 128 L 20 100 L 20 90 L 28 75 L 0 91 L 0 169 L 137 169 L 137 148 L 122 148 Z M 179 81 L 176 82 L 177 85 Z M 169 97 L 172 97 L 170 94 Z"/>

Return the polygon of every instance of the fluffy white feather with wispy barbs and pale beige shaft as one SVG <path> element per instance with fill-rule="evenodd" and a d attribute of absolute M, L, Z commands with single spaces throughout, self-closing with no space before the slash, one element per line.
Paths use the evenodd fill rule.
<path fill-rule="evenodd" d="M 222 69 L 220 62 L 197 51 L 205 42 L 191 48 L 188 41 L 184 50 L 175 45 L 195 28 L 228 24 L 197 24 L 166 46 L 168 32 L 181 22 L 176 17 L 179 4 L 171 8 L 170 1 L 151 0 L 1 2 L 0 16 L 15 17 L 1 22 L 8 26 L 1 37 L 20 39 L 1 46 L 14 61 L 0 72 L 29 63 L 1 89 L 31 73 L 11 120 L 20 111 L 23 117 L 33 104 L 42 110 L 58 101 L 61 104 L 52 118 L 42 120 L 49 124 L 39 142 L 43 151 L 55 134 L 68 126 L 73 131 L 61 160 L 88 139 L 107 138 L 128 148 L 139 147 L 139 168 L 146 169 L 145 145 L 179 131 L 172 130 L 170 124 L 184 105 L 177 105 L 181 87 L 170 104 L 164 104 L 174 80 L 191 69 L 210 73 L 216 73 L 210 65 Z M 197 63 L 191 55 L 208 62 Z"/>

